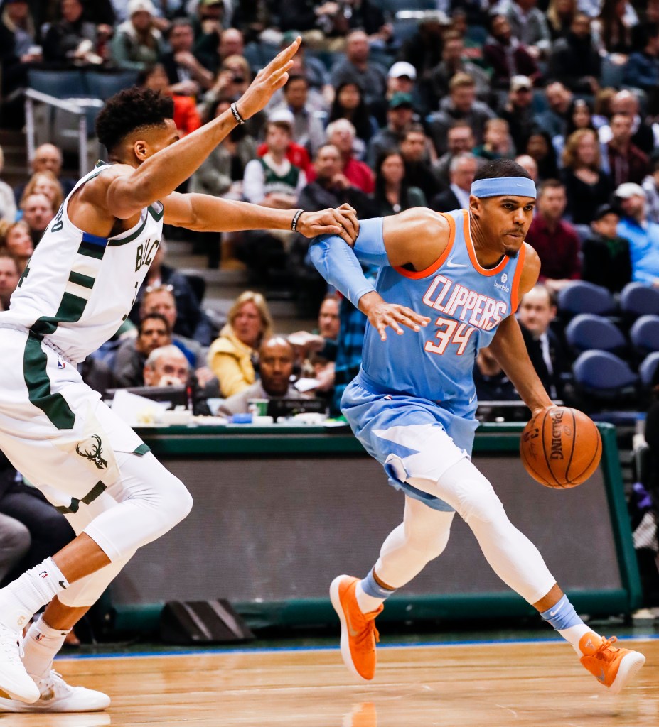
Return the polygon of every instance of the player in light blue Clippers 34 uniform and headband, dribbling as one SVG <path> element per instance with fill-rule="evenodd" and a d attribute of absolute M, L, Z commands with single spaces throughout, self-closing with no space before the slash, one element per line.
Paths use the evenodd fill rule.
<path fill-rule="evenodd" d="M 529 409 L 552 406 L 516 321 L 540 260 L 524 242 L 535 204 L 529 174 L 508 159 L 476 174 L 469 209 L 409 209 L 362 220 L 354 244 L 323 237 L 310 254 L 320 273 L 368 317 L 363 361 L 342 398 L 360 442 L 405 494 L 401 523 L 363 579 L 339 576 L 332 604 L 345 664 L 372 679 L 384 601 L 441 555 L 455 513 L 473 531 L 492 569 L 575 648 L 612 693 L 645 657 L 615 648 L 587 627 L 540 553 L 508 520 L 492 485 L 470 459 L 476 394 L 472 370 L 489 346 Z M 375 286 L 360 262 L 378 265 Z M 403 335 L 403 327 L 411 329 Z M 387 327 L 396 335 L 387 335 Z"/>

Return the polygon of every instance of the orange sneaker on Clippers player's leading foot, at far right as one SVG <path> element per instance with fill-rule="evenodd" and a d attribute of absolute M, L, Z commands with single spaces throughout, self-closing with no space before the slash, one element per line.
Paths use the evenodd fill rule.
<path fill-rule="evenodd" d="M 645 663 L 645 656 L 638 651 L 612 646 L 616 641 L 615 636 L 604 639 L 592 631 L 579 641 L 581 663 L 611 694 L 618 694 Z"/>

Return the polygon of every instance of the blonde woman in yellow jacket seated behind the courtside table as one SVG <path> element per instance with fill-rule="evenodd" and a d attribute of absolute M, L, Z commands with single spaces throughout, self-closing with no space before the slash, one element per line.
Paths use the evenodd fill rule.
<path fill-rule="evenodd" d="M 261 293 L 241 293 L 229 310 L 226 326 L 210 345 L 208 366 L 220 382 L 224 398 L 256 380 L 254 359 L 261 342 L 272 335 L 272 316 Z"/>

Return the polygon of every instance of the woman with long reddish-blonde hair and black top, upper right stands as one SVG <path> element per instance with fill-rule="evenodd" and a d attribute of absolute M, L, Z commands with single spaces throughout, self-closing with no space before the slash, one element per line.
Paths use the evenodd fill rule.
<path fill-rule="evenodd" d="M 565 142 L 561 179 L 567 195 L 566 212 L 575 225 L 589 225 L 596 209 L 609 200 L 613 185 L 601 169 L 599 137 L 593 129 L 577 129 Z"/>

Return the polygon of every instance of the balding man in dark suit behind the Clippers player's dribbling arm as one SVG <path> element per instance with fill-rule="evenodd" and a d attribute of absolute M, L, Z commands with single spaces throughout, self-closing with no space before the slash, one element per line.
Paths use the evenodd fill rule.
<path fill-rule="evenodd" d="M 542 385 L 553 399 L 564 396 L 561 372 L 564 349 L 550 324 L 556 318 L 556 302 L 550 290 L 537 284 L 522 298 L 517 318 L 526 349 Z"/>

